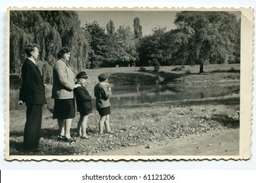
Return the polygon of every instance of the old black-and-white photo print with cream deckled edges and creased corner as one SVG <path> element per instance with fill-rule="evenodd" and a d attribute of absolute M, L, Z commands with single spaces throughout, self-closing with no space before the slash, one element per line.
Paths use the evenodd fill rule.
<path fill-rule="evenodd" d="M 9 8 L 5 159 L 248 159 L 252 15 Z"/>

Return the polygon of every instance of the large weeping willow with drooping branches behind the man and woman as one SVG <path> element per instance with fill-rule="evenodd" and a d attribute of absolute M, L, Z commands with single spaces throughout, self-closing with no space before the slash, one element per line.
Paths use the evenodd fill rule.
<path fill-rule="evenodd" d="M 10 73 L 20 73 L 26 46 L 39 46 L 39 65 L 51 84 L 53 65 L 62 46 L 71 48 L 70 65 L 85 69 L 89 44 L 75 11 L 24 10 L 10 12 Z"/>

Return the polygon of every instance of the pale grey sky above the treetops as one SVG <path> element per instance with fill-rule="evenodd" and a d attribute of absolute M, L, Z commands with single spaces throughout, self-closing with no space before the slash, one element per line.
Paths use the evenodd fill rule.
<path fill-rule="evenodd" d="M 166 27 L 167 31 L 176 28 L 174 20 L 177 11 L 80 10 L 77 11 L 77 13 L 82 26 L 84 26 L 86 22 L 91 23 L 96 20 L 101 27 L 106 28 L 106 24 L 109 20 L 112 20 L 115 25 L 115 30 L 117 30 L 120 25 L 129 26 L 133 29 L 133 20 L 135 17 L 139 17 L 143 36 L 152 34 L 154 27 Z M 236 14 L 236 16 L 240 16 L 238 12 L 233 13 Z"/>

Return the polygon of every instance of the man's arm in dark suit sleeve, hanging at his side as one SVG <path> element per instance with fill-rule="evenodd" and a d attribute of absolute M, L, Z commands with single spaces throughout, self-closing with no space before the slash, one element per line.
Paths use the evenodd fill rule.
<path fill-rule="evenodd" d="M 22 87 L 20 88 L 19 105 L 26 101 L 26 97 L 30 93 L 30 88 L 33 80 L 33 69 L 31 65 L 26 64 L 22 67 Z M 21 105 L 22 105 L 21 103 Z"/>

